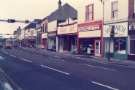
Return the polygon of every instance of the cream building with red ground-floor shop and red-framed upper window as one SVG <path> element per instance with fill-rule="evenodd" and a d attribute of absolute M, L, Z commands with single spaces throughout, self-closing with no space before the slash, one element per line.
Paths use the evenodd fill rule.
<path fill-rule="evenodd" d="M 100 0 L 83 0 L 78 8 L 78 52 L 102 56 L 103 10 Z"/>

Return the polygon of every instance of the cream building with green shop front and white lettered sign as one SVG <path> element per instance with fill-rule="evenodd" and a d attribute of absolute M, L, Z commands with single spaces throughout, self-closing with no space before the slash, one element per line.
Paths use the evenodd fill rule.
<path fill-rule="evenodd" d="M 127 58 L 129 0 L 104 0 L 104 49 L 105 56 L 109 51 L 114 58 Z M 110 40 L 110 32 L 114 38 Z M 109 43 L 110 50 L 109 50 Z"/>

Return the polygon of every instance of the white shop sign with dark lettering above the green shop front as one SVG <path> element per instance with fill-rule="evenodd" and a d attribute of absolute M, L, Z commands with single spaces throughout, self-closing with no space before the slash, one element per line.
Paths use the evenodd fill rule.
<path fill-rule="evenodd" d="M 122 23 L 122 24 L 105 25 L 103 30 L 104 37 L 110 37 L 112 26 L 114 26 L 114 37 L 128 36 L 128 24 Z"/>

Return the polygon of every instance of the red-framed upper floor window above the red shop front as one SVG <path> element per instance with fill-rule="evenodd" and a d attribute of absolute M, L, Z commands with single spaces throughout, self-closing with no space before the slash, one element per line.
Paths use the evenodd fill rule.
<path fill-rule="evenodd" d="M 89 21 L 89 20 L 93 20 L 93 18 L 94 18 L 94 4 L 90 4 L 86 6 L 85 20 Z"/>

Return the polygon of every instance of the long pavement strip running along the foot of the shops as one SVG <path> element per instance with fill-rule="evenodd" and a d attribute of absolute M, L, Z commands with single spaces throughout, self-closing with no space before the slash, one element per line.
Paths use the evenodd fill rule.
<path fill-rule="evenodd" d="M 47 52 L 51 53 L 52 55 L 57 55 L 60 57 L 74 57 L 76 59 L 85 60 L 85 61 L 95 61 L 98 63 L 108 63 L 108 64 L 117 64 L 117 65 L 124 65 L 128 66 L 129 68 L 135 68 L 135 60 L 119 60 L 119 59 L 111 59 L 109 62 L 106 58 L 95 57 L 95 56 L 88 56 L 88 55 L 79 55 L 79 54 L 72 54 L 72 53 L 56 53 L 53 51 L 48 51 L 46 49 L 38 49 L 38 48 L 21 48 L 22 50 L 28 52 L 35 52 L 37 54 L 46 55 Z"/>

